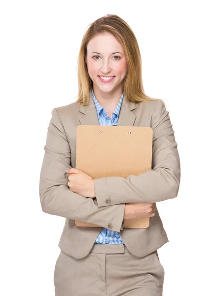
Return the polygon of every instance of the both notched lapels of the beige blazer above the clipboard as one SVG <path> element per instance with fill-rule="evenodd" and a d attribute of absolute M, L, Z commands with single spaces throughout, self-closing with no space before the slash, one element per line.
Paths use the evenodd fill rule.
<path fill-rule="evenodd" d="M 117 126 L 133 126 L 136 120 L 136 114 L 134 114 L 132 111 L 135 109 L 136 103 L 127 101 L 124 95 L 121 109 L 119 112 Z M 95 109 L 95 104 L 92 99 L 91 90 L 89 92 L 89 104 L 87 106 L 80 105 L 79 111 L 83 114 L 83 116 L 79 119 L 80 124 L 100 125 L 98 115 Z"/>

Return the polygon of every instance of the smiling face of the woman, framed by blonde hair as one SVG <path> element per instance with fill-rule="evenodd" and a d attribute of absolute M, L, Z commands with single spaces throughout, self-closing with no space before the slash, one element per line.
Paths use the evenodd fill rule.
<path fill-rule="evenodd" d="M 113 35 L 104 33 L 93 37 L 87 44 L 85 62 L 94 91 L 96 88 L 103 93 L 122 91 L 127 62 L 121 44 Z M 100 76 L 113 78 L 104 80 Z"/>

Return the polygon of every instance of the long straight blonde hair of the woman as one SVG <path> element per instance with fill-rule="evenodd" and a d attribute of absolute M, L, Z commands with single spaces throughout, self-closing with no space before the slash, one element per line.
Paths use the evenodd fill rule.
<path fill-rule="evenodd" d="M 93 82 L 89 77 L 85 63 L 87 43 L 96 35 L 108 32 L 121 43 L 127 60 L 127 74 L 123 80 L 123 90 L 126 99 L 131 102 L 144 102 L 152 99 L 145 95 L 142 80 L 142 60 L 137 39 L 130 26 L 119 16 L 107 14 L 94 21 L 82 38 L 78 60 L 78 98 L 76 102 L 88 105 L 89 93 Z"/>

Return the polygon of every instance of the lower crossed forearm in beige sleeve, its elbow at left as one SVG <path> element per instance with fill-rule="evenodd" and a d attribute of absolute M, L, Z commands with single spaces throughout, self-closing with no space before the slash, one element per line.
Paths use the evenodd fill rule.
<path fill-rule="evenodd" d="M 111 207 L 98 208 L 96 200 L 72 192 L 66 185 L 49 188 L 48 181 L 40 182 L 40 201 L 42 211 L 72 220 L 89 222 L 102 227 L 112 224 L 113 231 L 120 231 L 124 217 L 125 203 Z M 46 188 L 46 189 L 45 189 Z"/>

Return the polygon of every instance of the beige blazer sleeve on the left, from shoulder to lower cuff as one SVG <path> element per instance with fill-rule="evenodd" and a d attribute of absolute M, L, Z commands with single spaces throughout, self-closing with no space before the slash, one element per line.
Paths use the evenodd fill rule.
<path fill-rule="evenodd" d="M 56 108 L 49 122 L 44 158 L 39 178 L 39 196 L 42 211 L 72 220 L 93 223 L 113 231 L 123 229 L 125 203 L 98 207 L 96 199 L 86 198 L 70 190 L 68 174 L 71 169 L 71 149 L 64 126 Z"/>

